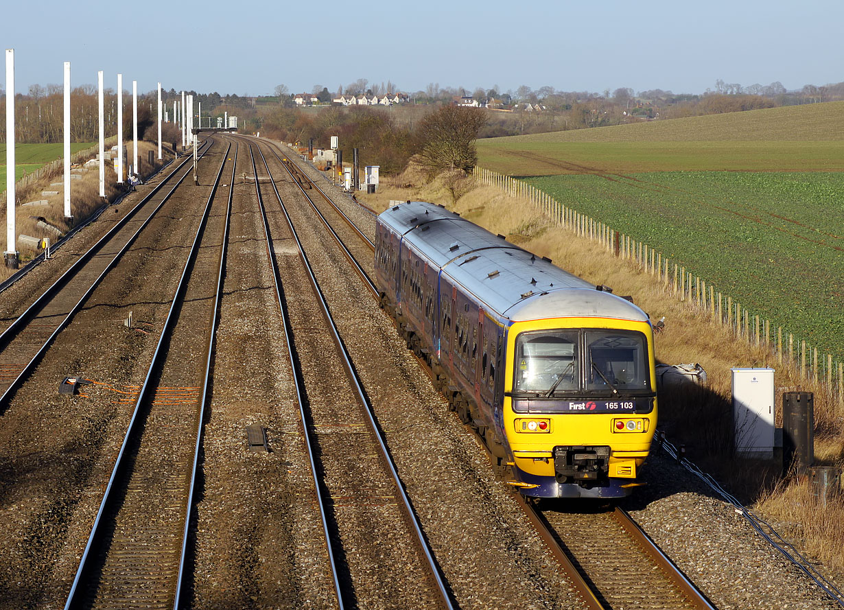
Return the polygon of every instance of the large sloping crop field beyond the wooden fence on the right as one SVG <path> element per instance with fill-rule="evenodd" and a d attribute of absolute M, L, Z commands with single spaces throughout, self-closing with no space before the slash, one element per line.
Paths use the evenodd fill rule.
<path fill-rule="evenodd" d="M 479 165 L 653 246 L 841 359 L 841 125 L 833 103 L 500 138 L 479 142 Z"/>

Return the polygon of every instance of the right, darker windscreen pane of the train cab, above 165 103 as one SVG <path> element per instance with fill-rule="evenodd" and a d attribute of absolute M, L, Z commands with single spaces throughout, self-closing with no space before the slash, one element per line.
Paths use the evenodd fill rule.
<path fill-rule="evenodd" d="M 650 390 L 647 343 L 641 332 L 586 332 L 587 390 Z"/>

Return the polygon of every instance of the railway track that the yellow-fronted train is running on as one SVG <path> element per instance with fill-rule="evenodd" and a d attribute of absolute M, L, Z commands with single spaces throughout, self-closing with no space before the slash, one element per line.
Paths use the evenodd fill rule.
<path fill-rule="evenodd" d="M 345 231 L 346 240 L 354 239 L 351 235 L 357 235 L 362 238 L 358 240 L 362 244 L 359 249 L 374 250 L 372 241 L 354 226 L 348 215 L 316 183 L 310 181 L 287 157 L 279 157 L 279 160 L 283 160 L 291 179 L 300 186 L 302 194 L 317 210 L 324 224 L 337 223 L 330 222 L 319 212 L 317 204 L 303 188 L 303 183 L 310 182 L 311 188 L 307 191 L 319 192 L 322 199 L 330 204 L 328 209 L 335 211 L 335 221 L 342 219 L 340 224 L 353 227 L 352 231 Z M 335 240 L 342 244 L 338 232 L 331 230 Z M 349 258 L 354 256 L 352 246 L 344 245 L 343 250 Z M 357 262 L 354 266 L 364 278 L 367 288 L 373 285 L 371 279 L 360 271 L 362 266 Z M 425 361 L 423 356 L 420 359 Z M 695 588 L 624 510 L 616 508 L 609 513 L 601 511 L 592 514 L 587 510 L 584 512 L 582 505 L 575 505 L 564 514 L 557 510 L 538 510 L 521 495 L 516 497 L 587 607 L 642 610 L 713 608 L 706 596 Z M 602 544 L 606 546 L 601 548 Z"/>

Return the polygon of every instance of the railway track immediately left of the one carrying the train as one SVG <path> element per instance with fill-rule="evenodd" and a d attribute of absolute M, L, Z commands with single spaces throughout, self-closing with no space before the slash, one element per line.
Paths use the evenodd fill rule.
<path fill-rule="evenodd" d="M 417 607 L 451 608 L 448 587 L 295 229 L 295 213 L 257 149 L 256 195 L 270 259 L 277 265 L 277 294 L 338 606 L 400 605 L 395 581 L 401 579 L 414 583 Z M 275 209 L 268 209 L 265 196 Z"/>

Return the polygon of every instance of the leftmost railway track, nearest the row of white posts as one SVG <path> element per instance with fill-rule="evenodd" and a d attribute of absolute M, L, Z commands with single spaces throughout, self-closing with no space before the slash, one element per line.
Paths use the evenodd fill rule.
<path fill-rule="evenodd" d="M 209 146 L 203 145 L 202 154 Z M 0 334 L 0 414 L 58 333 L 191 173 L 189 161 L 177 165 Z"/>

